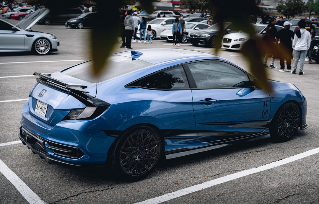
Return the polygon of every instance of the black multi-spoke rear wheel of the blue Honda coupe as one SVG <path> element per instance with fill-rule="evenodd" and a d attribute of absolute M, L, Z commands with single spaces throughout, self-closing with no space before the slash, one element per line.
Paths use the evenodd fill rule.
<path fill-rule="evenodd" d="M 126 131 L 115 145 L 112 166 L 126 179 L 142 179 L 153 171 L 161 152 L 162 142 L 153 128 L 135 127 Z"/>

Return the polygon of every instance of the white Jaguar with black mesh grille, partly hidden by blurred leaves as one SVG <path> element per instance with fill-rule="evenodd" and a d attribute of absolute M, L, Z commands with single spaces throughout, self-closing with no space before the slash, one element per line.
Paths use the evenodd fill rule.
<path fill-rule="evenodd" d="M 268 24 L 253 24 L 255 33 L 264 35 L 266 33 L 266 27 Z M 275 25 L 277 31 L 283 29 L 283 26 Z M 242 45 L 249 39 L 248 33 L 243 33 L 241 31 L 236 33 L 229 33 L 224 35 L 221 42 L 221 48 L 226 50 L 241 50 Z"/>

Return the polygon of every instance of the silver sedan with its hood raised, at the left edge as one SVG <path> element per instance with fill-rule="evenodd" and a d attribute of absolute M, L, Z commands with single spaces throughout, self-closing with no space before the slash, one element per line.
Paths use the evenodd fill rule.
<path fill-rule="evenodd" d="M 39 9 L 16 25 L 0 19 L 0 52 L 30 52 L 45 55 L 58 51 L 56 36 L 31 30 L 31 27 L 50 10 Z M 22 29 L 23 28 L 23 29 Z"/>

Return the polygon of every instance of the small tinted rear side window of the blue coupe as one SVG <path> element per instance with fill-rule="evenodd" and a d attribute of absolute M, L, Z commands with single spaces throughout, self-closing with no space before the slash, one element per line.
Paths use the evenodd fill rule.
<path fill-rule="evenodd" d="M 150 89 L 189 89 L 182 66 L 165 69 L 135 81 L 126 87 L 145 87 Z"/>

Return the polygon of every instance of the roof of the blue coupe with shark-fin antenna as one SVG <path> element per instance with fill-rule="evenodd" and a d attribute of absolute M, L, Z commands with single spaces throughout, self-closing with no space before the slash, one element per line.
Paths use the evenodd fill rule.
<path fill-rule="evenodd" d="M 152 49 L 138 49 L 133 51 L 124 51 L 116 53 L 114 55 L 132 57 L 138 60 L 149 62 L 152 64 L 158 64 L 161 62 L 169 62 L 174 60 L 185 59 L 189 57 L 199 57 L 199 56 L 215 56 L 212 54 L 185 50 L 185 49 L 176 49 L 176 48 L 152 48 Z M 132 56 L 135 55 L 135 56 Z"/>

